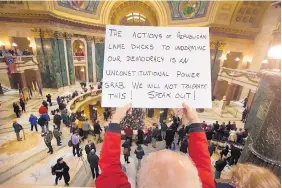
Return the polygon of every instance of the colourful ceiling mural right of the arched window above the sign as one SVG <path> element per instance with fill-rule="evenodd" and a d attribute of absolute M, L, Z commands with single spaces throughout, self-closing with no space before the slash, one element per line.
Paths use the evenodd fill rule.
<path fill-rule="evenodd" d="M 208 1 L 168 1 L 171 19 L 185 20 L 205 17 Z"/>

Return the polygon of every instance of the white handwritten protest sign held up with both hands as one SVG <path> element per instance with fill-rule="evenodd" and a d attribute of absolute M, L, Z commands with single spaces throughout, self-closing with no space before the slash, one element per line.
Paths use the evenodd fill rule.
<path fill-rule="evenodd" d="M 103 107 L 211 108 L 208 27 L 106 27 Z"/>

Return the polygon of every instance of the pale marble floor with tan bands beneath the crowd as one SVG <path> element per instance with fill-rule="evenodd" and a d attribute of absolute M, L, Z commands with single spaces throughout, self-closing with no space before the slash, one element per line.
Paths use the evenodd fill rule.
<path fill-rule="evenodd" d="M 53 97 L 52 102 L 54 105 L 52 109 L 56 109 L 58 106 L 56 104 L 56 97 L 58 95 L 65 95 L 74 90 L 81 90 L 79 85 L 72 87 L 65 87 L 59 91 L 57 90 L 43 90 L 43 96 L 50 93 Z M 18 101 L 18 95 L 11 94 L 8 96 L 0 97 L 0 186 L 1 187 L 44 187 L 54 185 L 54 176 L 51 175 L 51 166 L 56 163 L 59 157 L 63 157 L 66 163 L 70 166 L 70 176 L 71 176 L 71 187 L 93 187 L 93 180 L 91 178 L 90 169 L 88 163 L 84 160 L 73 157 L 72 148 L 67 146 L 69 140 L 69 130 L 63 126 L 63 145 L 56 146 L 55 139 L 52 141 L 53 148 L 55 152 L 53 155 L 47 154 L 47 148 L 40 134 L 40 127 L 38 127 L 38 132 L 30 131 L 30 125 L 28 123 L 28 117 L 30 113 L 38 115 L 38 107 L 41 104 L 42 98 L 35 96 L 28 101 L 26 109 L 27 112 L 24 113 L 18 122 L 23 125 L 25 132 L 25 139 L 21 142 L 16 141 L 15 133 L 12 128 L 12 120 L 15 118 L 12 109 L 12 103 Z M 199 116 L 202 121 L 206 121 L 208 124 L 213 123 L 218 120 L 220 123 L 225 121 L 235 121 L 237 127 L 242 127 L 243 124 L 240 122 L 240 117 L 234 117 L 231 114 L 218 115 L 216 110 L 216 103 L 214 103 L 213 109 L 206 109 L 204 113 L 200 113 Z M 230 107 L 239 111 L 240 105 L 234 104 Z M 102 113 L 101 113 L 102 114 Z M 156 112 L 155 114 L 158 114 Z M 102 121 L 102 117 L 99 117 Z M 156 122 L 158 119 L 157 115 L 153 118 L 145 118 L 145 125 L 151 126 L 152 123 Z M 52 121 L 52 120 L 51 120 Z M 106 122 L 102 121 L 102 125 Z M 23 137 L 23 135 L 21 135 Z M 94 139 L 89 136 L 89 139 Z M 85 145 L 87 141 L 82 143 Z M 97 154 L 100 154 L 102 147 L 101 144 L 97 144 Z M 133 146 L 136 147 L 136 146 Z M 154 152 L 155 150 L 161 150 L 165 148 L 164 142 L 157 143 L 157 149 L 151 147 L 151 145 L 144 146 L 145 153 Z M 135 148 L 132 149 L 134 151 Z M 212 163 L 218 159 L 218 153 L 212 156 Z M 129 177 L 132 187 L 135 187 L 135 177 L 136 177 L 136 165 L 137 160 L 135 155 L 132 153 L 129 160 L 130 164 L 124 164 L 123 156 L 121 156 L 121 162 L 126 168 L 126 173 Z M 228 178 L 227 172 L 229 168 L 224 170 L 226 173 L 222 174 L 222 178 Z M 59 182 L 58 186 L 64 186 L 63 180 Z"/>

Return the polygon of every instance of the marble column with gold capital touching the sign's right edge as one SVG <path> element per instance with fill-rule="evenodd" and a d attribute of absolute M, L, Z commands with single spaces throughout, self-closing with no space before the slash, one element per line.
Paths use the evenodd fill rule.
<path fill-rule="evenodd" d="M 217 81 L 218 73 L 220 70 L 220 57 L 223 52 L 223 48 L 225 43 L 221 41 L 211 41 L 210 49 L 211 49 L 211 86 L 212 92 L 214 93 L 215 84 Z"/>

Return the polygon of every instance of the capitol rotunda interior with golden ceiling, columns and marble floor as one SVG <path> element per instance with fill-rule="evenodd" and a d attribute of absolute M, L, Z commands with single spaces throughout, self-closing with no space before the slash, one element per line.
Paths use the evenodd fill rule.
<path fill-rule="evenodd" d="M 207 143 L 216 146 L 210 156 L 211 173 L 217 172 L 214 166 L 223 155 L 233 160 L 232 147 L 241 152 L 235 164 L 228 161 L 220 178 L 214 177 L 215 182 L 232 179 L 237 161 L 268 169 L 281 182 L 281 1 L 0 1 L 0 25 L 0 187 L 54 186 L 58 179 L 51 167 L 62 157 L 70 180 L 59 180 L 57 186 L 99 188 L 84 148 L 88 141 L 95 142 L 101 158 L 105 128 L 111 121 L 107 113 L 116 111 L 101 107 L 107 25 L 138 26 L 140 32 L 147 26 L 208 27 L 212 108 L 197 108 L 196 113 L 214 131 L 209 139 L 205 127 Z M 61 144 L 52 139 L 51 155 L 46 130 L 39 126 L 45 105 L 54 136 L 54 115 L 62 118 Z M 120 161 L 131 187 L 137 188 L 137 132 L 163 120 L 175 123 L 175 111 L 134 110 L 135 116 L 127 115 L 128 121 L 121 123 L 122 129 L 133 129 L 131 163 L 124 162 L 123 152 Z M 38 118 L 36 131 L 31 114 Z M 102 131 L 96 140 L 91 131 L 95 132 L 97 120 Z M 80 135 L 83 154 L 74 157 L 75 149 L 68 146 L 70 132 L 73 124 L 82 131 L 82 121 L 89 122 L 90 134 L 87 139 Z M 225 140 L 217 137 L 216 121 L 235 125 Z M 19 135 L 15 123 L 22 127 Z M 232 131 L 235 140 L 230 137 Z M 127 133 L 122 130 L 121 135 L 123 143 Z M 244 138 L 239 140 L 239 135 Z M 175 143 L 180 137 L 175 134 Z M 175 152 L 181 153 L 182 142 L 178 141 Z M 228 146 L 230 151 L 223 154 Z M 164 150 L 166 143 L 142 147 L 147 156 Z"/>

